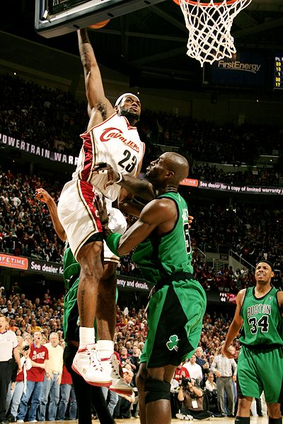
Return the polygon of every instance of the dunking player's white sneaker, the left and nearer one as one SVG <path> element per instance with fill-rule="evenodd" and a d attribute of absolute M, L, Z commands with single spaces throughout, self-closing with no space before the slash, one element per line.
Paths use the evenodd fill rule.
<path fill-rule="evenodd" d="M 112 379 L 109 373 L 103 370 L 95 346 L 96 345 L 93 343 L 86 345 L 84 349 L 79 349 L 71 367 L 77 374 L 81 375 L 88 384 L 109 387 L 112 383 Z"/>

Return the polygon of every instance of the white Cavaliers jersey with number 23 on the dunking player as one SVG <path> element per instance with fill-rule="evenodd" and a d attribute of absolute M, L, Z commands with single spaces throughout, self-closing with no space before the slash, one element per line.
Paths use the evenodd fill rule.
<path fill-rule="evenodd" d="M 73 179 L 82 179 L 97 187 L 108 199 L 115 201 L 120 185 L 114 183 L 104 188 L 108 181 L 105 174 L 93 173 L 100 162 L 108 163 L 122 175 L 134 177 L 144 156 L 144 143 L 139 139 L 135 126 L 130 126 L 126 117 L 112 114 L 99 125 L 81 134 L 83 146 Z"/>

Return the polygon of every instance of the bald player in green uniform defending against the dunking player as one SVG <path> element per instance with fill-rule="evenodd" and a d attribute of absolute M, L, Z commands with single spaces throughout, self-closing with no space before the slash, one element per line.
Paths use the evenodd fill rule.
<path fill-rule="evenodd" d="M 155 284 L 137 378 L 141 424 L 171 423 L 170 382 L 175 367 L 195 352 L 200 341 L 206 295 L 192 276 L 187 204 L 178 194 L 188 171 L 183 156 L 167 152 L 147 168 L 149 182 L 134 182 L 137 191 L 131 189 L 129 177 L 122 182 L 121 176 L 112 173 L 110 182 L 117 179 L 128 191 L 149 200 L 156 197 L 122 236 L 109 231 L 107 212 L 96 202 L 108 247 L 117 256 L 136 247 L 134 261 L 144 278 Z"/>

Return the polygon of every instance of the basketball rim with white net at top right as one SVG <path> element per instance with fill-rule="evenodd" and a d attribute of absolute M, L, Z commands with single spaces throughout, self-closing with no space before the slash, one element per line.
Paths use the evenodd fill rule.
<path fill-rule="evenodd" d="M 252 0 L 214 0 L 192 1 L 173 0 L 178 4 L 189 30 L 187 56 L 212 64 L 214 61 L 232 57 L 236 53 L 234 39 L 231 36 L 233 19 Z"/>

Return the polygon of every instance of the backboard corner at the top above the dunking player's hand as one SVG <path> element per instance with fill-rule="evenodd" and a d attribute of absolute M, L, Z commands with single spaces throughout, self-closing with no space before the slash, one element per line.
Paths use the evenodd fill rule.
<path fill-rule="evenodd" d="M 46 38 L 86 28 L 164 0 L 35 0 L 35 31 Z"/>

